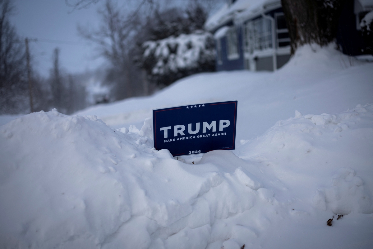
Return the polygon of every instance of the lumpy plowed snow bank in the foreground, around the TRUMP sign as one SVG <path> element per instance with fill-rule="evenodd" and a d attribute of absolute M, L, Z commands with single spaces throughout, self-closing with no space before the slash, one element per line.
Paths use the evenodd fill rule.
<path fill-rule="evenodd" d="M 271 245 L 264 238 L 283 219 L 373 213 L 373 105 L 295 114 L 241 141 L 242 159 L 211 151 L 194 164 L 152 148 L 150 119 L 141 130 L 56 110 L 13 120 L 0 127 L 0 241 L 4 248 L 259 248 Z"/>

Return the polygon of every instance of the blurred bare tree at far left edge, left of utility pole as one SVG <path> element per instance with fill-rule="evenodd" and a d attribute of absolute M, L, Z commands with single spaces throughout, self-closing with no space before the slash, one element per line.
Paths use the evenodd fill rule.
<path fill-rule="evenodd" d="M 0 113 L 28 108 L 25 49 L 10 24 L 12 11 L 11 0 L 0 0 Z"/>

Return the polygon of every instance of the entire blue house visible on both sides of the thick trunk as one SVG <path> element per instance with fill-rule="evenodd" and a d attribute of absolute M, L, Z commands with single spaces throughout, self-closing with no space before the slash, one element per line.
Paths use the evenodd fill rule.
<path fill-rule="evenodd" d="M 372 9 L 373 0 L 346 1 L 337 35 L 344 53 L 364 53 L 360 21 Z M 217 71 L 275 71 L 290 59 L 289 32 L 280 0 L 228 0 L 207 19 L 205 28 L 214 34 Z"/>

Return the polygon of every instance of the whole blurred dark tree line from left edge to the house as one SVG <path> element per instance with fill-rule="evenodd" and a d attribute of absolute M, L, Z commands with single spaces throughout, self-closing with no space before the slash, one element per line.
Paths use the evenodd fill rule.
<path fill-rule="evenodd" d="M 98 0 L 71 0 L 66 4 L 70 2 L 73 11 L 79 11 Z M 29 46 L 30 67 L 27 67 L 25 39 L 18 36 L 9 21 L 13 12 L 12 0 L 0 0 L 0 114 L 28 113 L 31 111 L 30 102 L 34 111 L 56 107 L 60 112 L 70 114 L 89 104 L 148 95 L 162 86 L 148 77 L 144 61 L 141 61 L 142 44 L 203 29 L 206 6 L 213 0 L 192 0 L 187 7 L 167 8 L 159 3 L 160 0 L 142 0 L 135 12 L 126 12 L 118 8 L 115 1 L 107 0 L 98 12 L 101 26 L 97 30 L 79 28 L 81 35 L 95 42 L 100 55 L 109 62 L 101 80 L 110 88 L 110 94 L 96 95 L 92 99 L 88 98 L 85 89 L 85 82 L 92 74 L 68 74 L 60 65 L 61 51 L 58 48 L 51 55 L 49 77 L 40 76 L 33 69 L 32 44 Z M 102 70 L 100 72 L 102 74 Z"/>

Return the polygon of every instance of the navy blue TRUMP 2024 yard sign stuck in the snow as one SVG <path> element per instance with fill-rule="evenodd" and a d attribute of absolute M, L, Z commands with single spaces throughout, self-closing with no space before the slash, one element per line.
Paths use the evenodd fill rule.
<path fill-rule="evenodd" d="M 153 110 L 154 148 L 173 156 L 234 150 L 237 101 Z"/>

